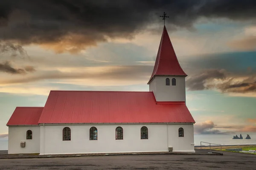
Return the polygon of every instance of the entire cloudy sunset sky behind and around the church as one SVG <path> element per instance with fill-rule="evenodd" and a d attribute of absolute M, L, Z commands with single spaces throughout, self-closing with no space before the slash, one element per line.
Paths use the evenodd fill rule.
<path fill-rule="evenodd" d="M 148 91 L 166 29 L 195 134 L 256 132 L 256 1 L 1 0 L 0 138 L 50 90 Z"/>

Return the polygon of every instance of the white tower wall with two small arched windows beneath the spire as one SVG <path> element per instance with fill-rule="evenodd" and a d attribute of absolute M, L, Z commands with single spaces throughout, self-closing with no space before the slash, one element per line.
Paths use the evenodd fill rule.
<path fill-rule="evenodd" d="M 166 86 L 166 78 L 170 79 L 170 86 Z M 176 79 L 176 86 L 172 86 L 172 78 Z M 156 76 L 149 91 L 154 92 L 157 101 L 186 101 L 185 77 Z"/>

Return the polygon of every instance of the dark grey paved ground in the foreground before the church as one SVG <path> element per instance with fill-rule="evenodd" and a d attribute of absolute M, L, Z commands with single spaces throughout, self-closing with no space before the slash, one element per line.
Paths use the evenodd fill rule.
<path fill-rule="evenodd" d="M 256 155 L 122 155 L 0 159 L 0 170 L 255 170 Z"/>

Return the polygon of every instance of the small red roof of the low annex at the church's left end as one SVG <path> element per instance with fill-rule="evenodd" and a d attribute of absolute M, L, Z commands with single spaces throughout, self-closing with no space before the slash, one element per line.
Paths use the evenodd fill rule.
<path fill-rule="evenodd" d="M 6 126 L 37 125 L 44 107 L 16 107 Z"/>

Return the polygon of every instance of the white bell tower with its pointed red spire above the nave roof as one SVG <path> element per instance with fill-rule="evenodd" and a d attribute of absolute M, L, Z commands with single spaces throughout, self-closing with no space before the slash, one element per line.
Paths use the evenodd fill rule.
<path fill-rule="evenodd" d="M 164 26 L 154 70 L 148 81 L 149 91 L 154 93 L 156 101 L 185 102 L 186 76 L 177 60 L 166 26 Z"/>

